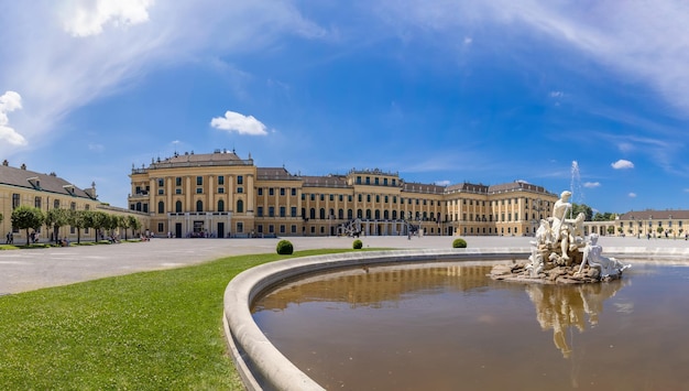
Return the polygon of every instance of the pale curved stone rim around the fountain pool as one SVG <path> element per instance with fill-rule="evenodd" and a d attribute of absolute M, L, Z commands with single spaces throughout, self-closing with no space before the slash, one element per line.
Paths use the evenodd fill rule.
<path fill-rule="evenodd" d="M 627 260 L 644 258 L 665 262 L 687 259 L 686 249 L 625 251 L 625 249 L 611 248 L 605 252 Z M 510 260 L 527 257 L 528 249 L 405 250 L 349 252 L 264 264 L 241 273 L 226 290 L 225 324 L 228 343 L 238 371 L 249 389 L 320 390 L 322 388 L 285 358 L 254 323 L 251 306 L 254 300 L 267 289 L 298 275 L 339 268 L 391 262 L 419 263 L 458 259 Z"/>

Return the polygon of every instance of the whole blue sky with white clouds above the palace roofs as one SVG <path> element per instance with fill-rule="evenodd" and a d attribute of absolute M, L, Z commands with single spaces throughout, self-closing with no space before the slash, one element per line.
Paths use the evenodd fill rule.
<path fill-rule="evenodd" d="M 0 1 L 0 159 L 111 205 L 132 165 L 228 149 L 689 209 L 685 1 Z"/>

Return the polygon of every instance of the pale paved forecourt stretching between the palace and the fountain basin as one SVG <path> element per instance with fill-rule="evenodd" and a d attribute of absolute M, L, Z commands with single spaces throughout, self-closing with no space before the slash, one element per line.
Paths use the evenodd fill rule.
<path fill-rule="evenodd" d="M 350 249 L 352 238 L 287 238 L 294 249 Z M 442 248 L 452 237 L 362 237 L 370 248 Z M 528 248 L 528 237 L 466 237 L 470 248 Z M 274 253 L 280 239 L 153 239 L 141 243 L 0 251 L 0 295 L 112 275 L 196 264 L 221 257 Z M 602 237 L 603 247 L 689 248 L 685 240 Z"/>

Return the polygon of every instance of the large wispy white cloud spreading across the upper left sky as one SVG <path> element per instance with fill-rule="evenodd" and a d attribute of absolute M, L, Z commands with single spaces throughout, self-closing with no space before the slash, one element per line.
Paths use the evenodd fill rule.
<path fill-rule="evenodd" d="M 92 4 L 86 7 L 89 2 Z M 33 140 L 32 146 L 58 138 L 66 129 L 62 120 L 74 110 L 135 87 L 152 72 L 197 62 L 210 52 L 232 57 L 260 52 L 286 36 L 322 40 L 330 33 L 291 2 L 251 0 L 231 7 L 217 0 L 153 3 L 3 3 L 0 25 L 7 34 L 0 45 L 0 86 L 22 93 L 24 109 L 12 118 L 12 124 Z M 84 15 L 77 17 L 78 12 Z M 77 39 L 65 28 L 73 34 L 91 35 Z M 4 139 L 12 135 L 14 142 L 21 140 L 13 130 L 3 129 L 3 134 Z M 0 155 L 17 150 L 0 142 Z"/>

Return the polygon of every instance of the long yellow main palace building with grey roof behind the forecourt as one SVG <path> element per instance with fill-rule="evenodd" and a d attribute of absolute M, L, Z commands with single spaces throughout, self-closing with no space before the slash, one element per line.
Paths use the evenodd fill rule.
<path fill-rule="evenodd" d="M 132 167 L 129 208 L 171 237 L 524 236 L 558 196 L 525 182 L 451 186 L 351 170 L 308 176 L 258 167 L 234 151 L 175 153 Z"/>

